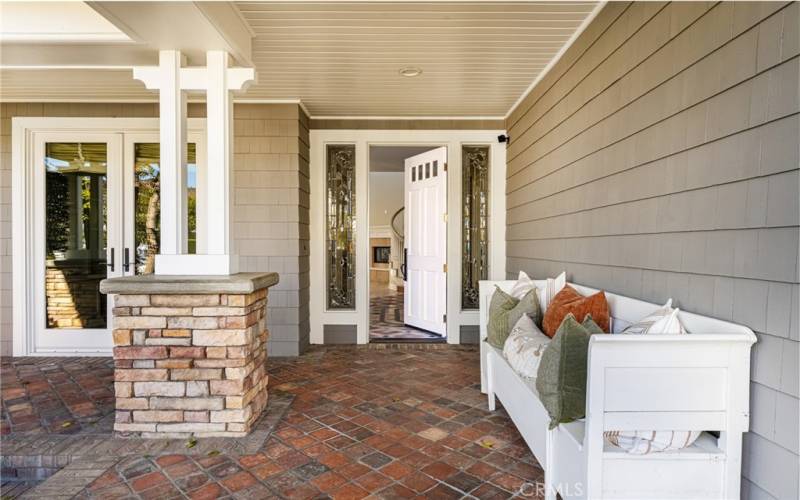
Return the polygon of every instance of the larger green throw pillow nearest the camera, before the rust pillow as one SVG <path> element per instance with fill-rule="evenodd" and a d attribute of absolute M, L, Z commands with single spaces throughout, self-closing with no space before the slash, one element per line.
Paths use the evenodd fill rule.
<path fill-rule="evenodd" d="M 570 313 L 542 353 L 536 390 L 550 414 L 551 429 L 586 415 L 586 363 L 589 337 L 595 333 L 603 330 L 591 316 L 581 324 Z"/>

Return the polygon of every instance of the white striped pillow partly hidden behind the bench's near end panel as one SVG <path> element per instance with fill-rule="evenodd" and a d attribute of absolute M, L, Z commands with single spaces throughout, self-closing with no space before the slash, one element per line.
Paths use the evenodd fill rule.
<path fill-rule="evenodd" d="M 648 314 L 621 333 L 630 335 L 680 335 L 688 333 L 678 319 L 678 309 L 669 299 L 659 309 Z M 688 448 L 700 437 L 699 431 L 606 431 L 606 440 L 628 453 L 645 455 L 658 451 Z"/>

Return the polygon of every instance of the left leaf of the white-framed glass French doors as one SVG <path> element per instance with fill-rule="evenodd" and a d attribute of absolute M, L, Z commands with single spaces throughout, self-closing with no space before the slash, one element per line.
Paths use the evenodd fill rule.
<path fill-rule="evenodd" d="M 111 300 L 100 281 L 122 276 L 122 135 L 33 136 L 32 323 L 36 353 L 107 353 Z"/>

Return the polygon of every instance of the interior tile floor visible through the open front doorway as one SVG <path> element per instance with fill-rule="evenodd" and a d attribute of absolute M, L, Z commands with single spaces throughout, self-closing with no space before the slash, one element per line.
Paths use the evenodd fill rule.
<path fill-rule="evenodd" d="M 369 338 L 381 342 L 444 342 L 444 337 L 406 326 L 403 322 L 403 294 L 385 283 L 370 283 Z"/>

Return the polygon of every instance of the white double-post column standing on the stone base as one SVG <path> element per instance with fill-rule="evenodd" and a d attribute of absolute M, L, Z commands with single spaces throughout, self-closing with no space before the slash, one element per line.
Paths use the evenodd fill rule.
<path fill-rule="evenodd" d="M 159 90 L 161 248 L 156 274 L 228 275 L 238 272 L 233 248 L 233 96 L 255 79 L 253 68 L 229 68 L 225 51 L 208 51 L 206 67 L 182 67 L 180 52 L 159 53 L 159 66 L 134 68 L 134 78 Z M 186 198 L 186 94 L 206 91 L 205 185 L 198 186 L 198 254 L 189 255 Z M 198 214 L 200 215 L 200 214 Z"/>

